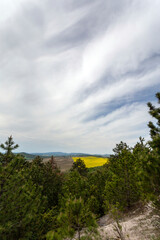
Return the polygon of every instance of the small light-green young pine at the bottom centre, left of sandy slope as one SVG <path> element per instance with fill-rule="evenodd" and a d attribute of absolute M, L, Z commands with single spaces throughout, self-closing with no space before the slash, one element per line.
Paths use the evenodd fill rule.
<path fill-rule="evenodd" d="M 56 231 L 47 234 L 48 240 L 73 238 L 76 233 L 78 239 L 82 239 L 81 234 L 85 237 L 98 234 L 95 218 L 81 198 L 69 199 L 66 202 L 58 216 L 58 224 Z"/>

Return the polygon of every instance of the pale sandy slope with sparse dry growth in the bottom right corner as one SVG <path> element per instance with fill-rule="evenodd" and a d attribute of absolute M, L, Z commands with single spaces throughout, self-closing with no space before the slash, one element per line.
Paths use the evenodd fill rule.
<path fill-rule="evenodd" d="M 136 209 L 119 223 L 125 240 L 153 240 L 160 236 L 160 215 L 151 204 Z M 115 231 L 116 223 L 108 215 L 100 219 L 99 225 L 102 239 L 120 239 Z"/>

